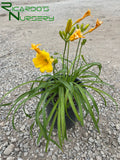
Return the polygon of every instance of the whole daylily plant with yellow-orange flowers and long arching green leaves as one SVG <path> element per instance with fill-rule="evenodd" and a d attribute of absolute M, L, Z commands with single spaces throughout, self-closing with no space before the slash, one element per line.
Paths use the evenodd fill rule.
<path fill-rule="evenodd" d="M 100 95 L 105 105 L 106 96 L 116 104 L 111 95 L 100 89 L 100 85 L 109 85 L 100 79 L 102 65 L 98 62 L 87 62 L 81 52 L 82 47 L 86 43 L 86 34 L 92 32 L 103 23 L 97 19 L 95 27 L 88 29 L 90 24 L 79 24 L 87 16 L 91 16 L 89 9 L 75 23 L 72 22 L 72 19 L 69 19 L 65 30 L 59 31 L 59 35 L 65 43 L 63 54 L 54 53 L 53 57 L 45 50 L 40 50 L 38 47 L 40 44 L 32 44 L 31 49 L 36 51 L 36 57 L 33 58 L 34 66 L 39 68 L 40 72 L 47 73 L 42 74 L 33 81 L 18 85 L 1 99 L 2 101 L 16 88 L 31 84 L 28 91 L 21 94 L 13 102 L 7 104 L 1 103 L 1 106 L 12 105 L 8 116 L 13 111 L 12 125 L 16 129 L 14 123 L 16 112 L 23 107 L 25 115 L 31 118 L 31 115 L 25 112 L 24 106 L 30 99 L 36 98 L 35 117 L 33 118 L 34 122 L 30 126 L 30 133 L 32 135 L 32 129 L 36 124 L 39 127 L 37 143 L 44 137 L 46 139 L 46 151 L 50 141 L 62 149 L 64 139 L 67 139 L 67 129 L 76 120 L 81 126 L 84 126 L 84 119 L 88 114 L 91 116 L 94 126 L 99 132 L 99 109 L 91 90 Z M 75 57 L 71 60 L 69 56 L 70 45 L 75 40 L 78 44 Z M 61 65 L 61 68 L 58 68 L 58 64 L 59 66 Z M 99 69 L 98 74 L 92 71 L 92 67 L 95 66 Z M 70 123 L 72 125 L 69 126 Z M 59 143 L 52 138 L 54 128 L 57 128 Z"/>

